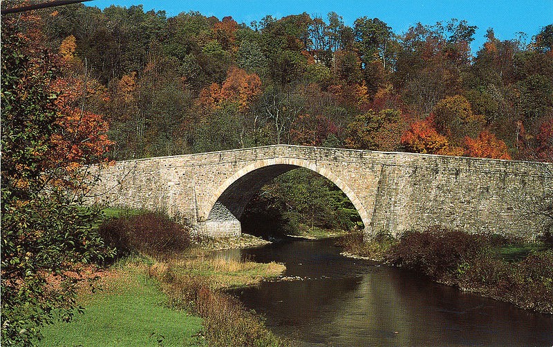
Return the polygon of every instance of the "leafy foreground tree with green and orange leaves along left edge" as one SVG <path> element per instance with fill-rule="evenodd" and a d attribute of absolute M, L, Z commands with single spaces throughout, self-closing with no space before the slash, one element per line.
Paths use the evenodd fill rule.
<path fill-rule="evenodd" d="M 75 303 L 82 264 L 111 256 L 93 228 L 99 211 L 79 206 L 86 188 L 79 168 L 106 149 L 82 136 L 105 123 L 75 127 L 78 112 L 68 113 L 51 86 L 60 66 L 24 34 L 24 23 L 32 21 L 2 19 L 2 346 L 35 344 L 42 326 L 70 321 L 82 310 Z"/>

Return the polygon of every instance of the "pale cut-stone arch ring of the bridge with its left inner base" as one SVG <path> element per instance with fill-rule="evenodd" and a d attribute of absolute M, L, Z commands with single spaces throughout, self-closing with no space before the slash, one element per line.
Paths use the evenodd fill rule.
<path fill-rule="evenodd" d="M 371 220 L 361 201 L 353 190 L 333 172 L 304 159 L 273 158 L 256 161 L 241 168 L 215 190 L 212 197 L 205 204 L 205 210 L 200 213 L 200 215 L 205 216 L 206 228 L 204 232 L 212 236 L 229 233 L 239 234 L 241 231 L 238 219 L 253 194 L 274 177 L 296 168 L 307 168 L 315 171 L 335 184 L 350 199 L 365 228 L 368 228 Z"/>

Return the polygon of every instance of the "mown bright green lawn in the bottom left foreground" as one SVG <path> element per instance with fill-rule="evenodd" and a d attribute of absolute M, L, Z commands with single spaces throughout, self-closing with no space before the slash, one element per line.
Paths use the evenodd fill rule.
<path fill-rule="evenodd" d="M 138 270 L 110 279 L 105 290 L 82 299 L 84 314 L 45 327 L 39 346 L 195 346 L 192 335 L 202 324 L 199 317 L 167 308 L 158 281 Z"/>

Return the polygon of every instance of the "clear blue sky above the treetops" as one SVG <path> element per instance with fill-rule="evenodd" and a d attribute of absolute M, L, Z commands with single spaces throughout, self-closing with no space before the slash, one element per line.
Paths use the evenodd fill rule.
<path fill-rule="evenodd" d="M 487 28 L 494 28 L 498 39 L 514 39 L 517 32 L 525 32 L 531 39 L 540 28 L 553 23 L 553 0 L 480 0 L 480 1 L 422 1 L 422 0 L 94 0 L 85 3 L 104 9 L 111 4 L 129 7 L 142 4 L 144 11 L 165 10 L 168 17 L 189 10 L 205 16 L 222 19 L 232 16 L 238 23 L 250 24 L 265 15 L 283 17 L 288 14 L 326 14 L 335 11 L 344 17 L 346 25 L 353 25 L 359 17 L 378 18 L 391 26 L 396 33 L 405 32 L 417 22 L 433 24 L 451 18 L 465 19 L 471 26 L 478 26 L 473 49 L 485 42 Z"/>

